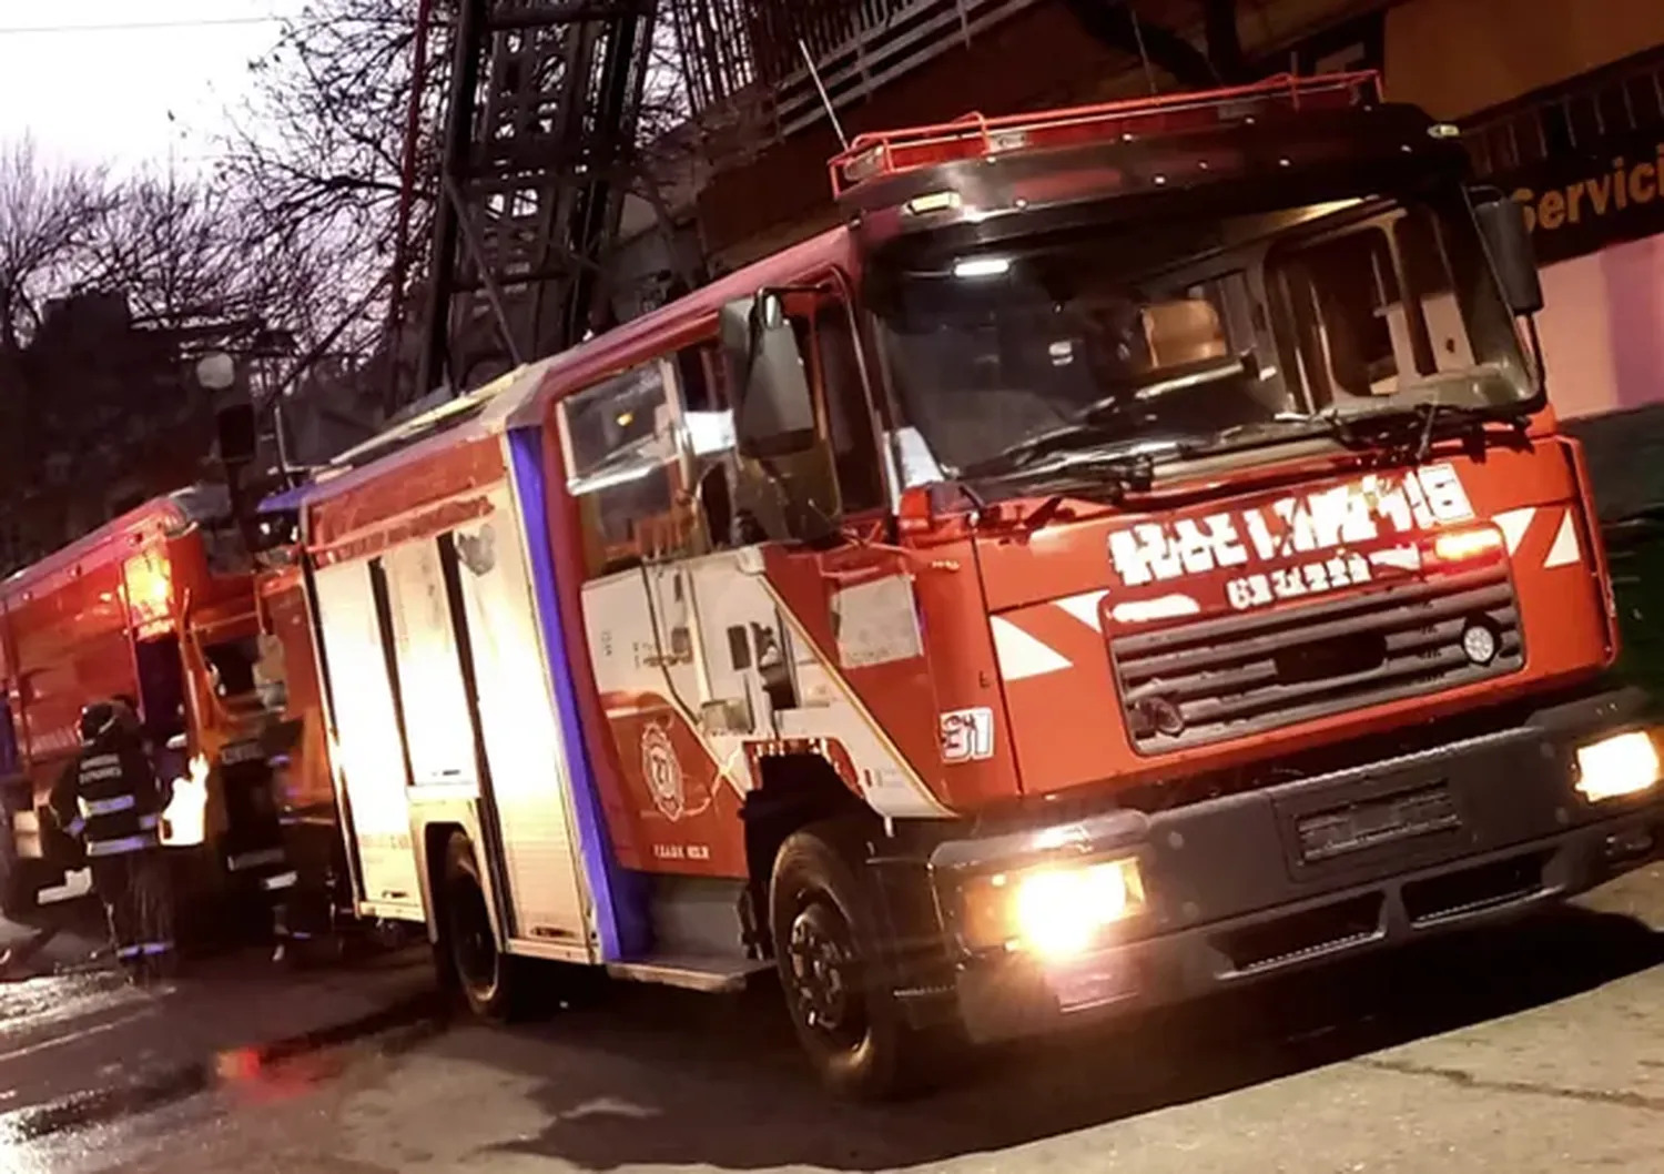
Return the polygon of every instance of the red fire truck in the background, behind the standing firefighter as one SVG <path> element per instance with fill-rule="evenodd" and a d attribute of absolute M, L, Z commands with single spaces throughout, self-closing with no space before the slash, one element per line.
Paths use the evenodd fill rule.
<path fill-rule="evenodd" d="M 280 588 L 265 596 L 281 598 Z M 8 913 L 80 868 L 73 841 L 42 811 L 80 748 L 82 706 L 116 696 L 136 704 L 175 783 L 163 843 L 201 864 L 181 876 L 206 881 L 185 893 L 218 898 L 228 878 L 248 881 L 231 891 L 293 883 L 283 824 L 331 804 L 333 789 L 308 793 L 305 766 L 290 766 L 305 713 L 285 713 L 281 691 L 261 689 L 283 629 L 265 631 L 260 601 L 230 495 L 216 486 L 155 498 L 0 585 Z M 305 654 L 301 666 L 310 678 Z"/>

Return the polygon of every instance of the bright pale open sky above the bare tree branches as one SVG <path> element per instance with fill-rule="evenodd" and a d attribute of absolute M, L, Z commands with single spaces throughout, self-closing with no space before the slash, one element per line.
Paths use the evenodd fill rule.
<path fill-rule="evenodd" d="M 0 0 L 0 138 L 33 135 L 52 157 L 121 170 L 165 167 L 171 110 L 176 162 L 200 167 L 223 112 L 248 93 L 248 62 L 278 37 L 260 18 L 303 3 Z"/>

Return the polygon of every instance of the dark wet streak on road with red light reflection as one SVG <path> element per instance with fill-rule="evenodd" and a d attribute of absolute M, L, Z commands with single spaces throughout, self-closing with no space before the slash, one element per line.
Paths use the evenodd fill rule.
<path fill-rule="evenodd" d="M 0 1152 L 7 1144 L 106 1126 L 208 1091 L 230 1094 L 241 1104 L 285 1101 L 316 1089 L 358 1061 L 398 1056 L 443 1029 L 439 1002 L 428 994 L 349 1024 L 236 1047 L 193 1064 L 130 1072 L 113 1087 L 0 1112 Z"/>

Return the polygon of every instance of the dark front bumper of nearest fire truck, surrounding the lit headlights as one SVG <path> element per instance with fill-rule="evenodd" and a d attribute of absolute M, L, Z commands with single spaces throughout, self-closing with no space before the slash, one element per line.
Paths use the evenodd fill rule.
<path fill-rule="evenodd" d="M 948 984 L 957 1014 L 978 1041 L 1033 1034 L 1582 893 L 1664 839 L 1664 786 L 1601 804 L 1572 788 L 1576 748 L 1644 728 L 1642 711 L 1642 694 L 1609 693 L 1433 751 L 1173 811 L 940 844 L 930 874 L 950 941 L 965 878 L 1018 868 L 1045 844 L 1075 859 L 1137 856 L 1148 893 L 1113 946 L 1068 963 L 962 953 Z"/>

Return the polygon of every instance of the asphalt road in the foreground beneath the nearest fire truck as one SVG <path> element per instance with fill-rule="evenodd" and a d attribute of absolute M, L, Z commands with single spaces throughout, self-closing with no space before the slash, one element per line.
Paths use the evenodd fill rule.
<path fill-rule="evenodd" d="M 1394 964 L 988 1054 L 882 1109 L 820 1096 L 777 994 L 619 987 L 524 1031 L 409 1024 L 223 1066 L 143 1112 L 0 1141 L 0 1169 L 1651 1172 L 1659 929 L 1664 868 Z"/>

